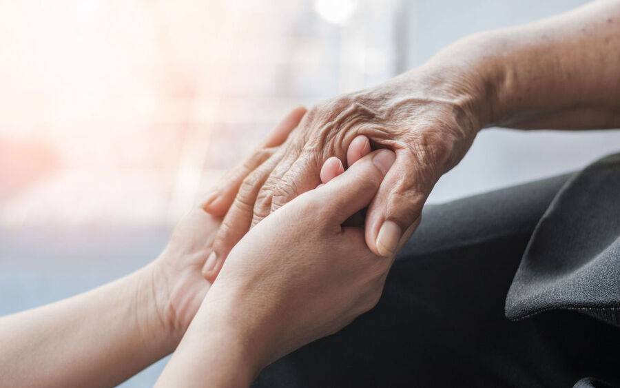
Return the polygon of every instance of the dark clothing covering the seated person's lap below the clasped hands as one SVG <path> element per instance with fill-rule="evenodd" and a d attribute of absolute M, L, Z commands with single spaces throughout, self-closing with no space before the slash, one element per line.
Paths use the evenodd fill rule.
<path fill-rule="evenodd" d="M 618 172 L 617 160 L 616 156 L 602 164 Z M 597 193 L 592 195 L 608 195 L 606 203 L 614 205 L 611 198 L 619 192 L 617 181 L 606 180 L 617 175 L 610 175 L 607 167 L 590 169 L 595 175 L 601 174 L 589 181 L 597 183 L 591 187 L 580 183 L 583 173 L 568 174 L 427 206 L 420 227 L 396 258 L 377 307 L 337 334 L 269 365 L 254 386 L 572 387 L 578 381 L 581 386 L 604 386 L 602 381 L 620 385 L 618 327 L 574 309 L 555 309 L 552 300 L 564 303 L 561 298 L 550 299 L 546 305 L 550 309 L 527 319 L 513 321 L 504 315 L 505 309 L 509 314 L 513 311 L 513 300 L 525 300 L 528 295 L 528 287 L 513 286 L 515 291 L 511 292 L 506 308 L 506 294 L 517 268 L 527 267 L 521 265 L 526 248 L 527 257 L 533 258 L 531 247 L 542 246 L 532 238 L 543 236 L 538 231 L 544 226 L 537 227 L 544 224 L 541 219 L 545 214 L 570 214 L 577 207 L 569 201 L 569 208 L 559 208 L 560 203 L 566 203 L 559 202 L 559 196 L 572 192 L 570 187 L 577 183 L 578 192 L 588 196 L 595 190 Z M 601 193 L 608 189 L 611 191 L 607 194 Z M 597 227 L 598 233 L 609 237 L 611 227 L 617 231 L 620 221 L 614 224 L 606 212 L 596 211 L 588 216 L 590 205 L 594 205 L 592 201 L 583 203 L 581 220 L 567 216 L 566 224 L 572 225 L 574 234 L 579 236 L 579 225 L 586 221 L 596 225 L 597 218 L 612 224 Z M 588 217 L 591 219 L 583 219 Z M 561 244 L 565 232 L 552 232 L 557 232 L 553 238 Z M 570 234 L 572 240 L 577 238 L 574 234 Z M 586 252 L 590 253 L 603 252 L 614 241 L 603 239 L 600 244 L 597 238 L 585 240 L 584 244 L 592 249 Z M 600 244 L 601 249 L 594 247 L 593 242 Z M 575 245 L 573 241 L 566 244 Z M 557 245 L 545 246 L 557 249 Z M 559 256 L 550 252 L 549 257 Z M 616 260 L 620 258 L 616 256 Z M 528 272 L 526 277 L 554 284 L 548 280 L 565 273 L 564 269 L 556 272 L 559 268 L 564 267 L 557 263 L 542 265 L 536 267 L 541 273 Z M 603 268 L 601 272 L 606 273 Z M 521 281 L 519 276 L 515 284 Z M 597 278 L 581 279 L 593 284 L 575 289 L 597 293 Z M 617 285 L 620 279 L 616 279 Z M 540 283 L 530 284 L 537 287 Z M 561 289 L 555 292 L 562 295 Z M 612 298 L 611 293 L 607 295 Z M 515 305 L 524 316 L 543 310 L 527 304 Z"/>

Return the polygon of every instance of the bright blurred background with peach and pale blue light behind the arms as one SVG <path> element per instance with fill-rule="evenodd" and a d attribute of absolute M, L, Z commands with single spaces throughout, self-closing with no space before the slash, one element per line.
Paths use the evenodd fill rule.
<path fill-rule="evenodd" d="M 585 1 L 0 0 L 0 314 L 152 261 L 288 110 Z M 431 196 L 582 167 L 618 132 L 482 132 Z M 163 362 L 125 382 L 150 386 Z"/>

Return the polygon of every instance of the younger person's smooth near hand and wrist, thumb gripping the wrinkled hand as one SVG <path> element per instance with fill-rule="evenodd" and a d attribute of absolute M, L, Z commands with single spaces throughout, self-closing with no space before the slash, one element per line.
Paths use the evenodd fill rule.
<path fill-rule="evenodd" d="M 273 360 L 374 307 L 393 256 L 375 255 L 363 227 L 342 223 L 369 205 L 394 161 L 372 152 L 246 234 L 156 386 L 249 385 Z"/>

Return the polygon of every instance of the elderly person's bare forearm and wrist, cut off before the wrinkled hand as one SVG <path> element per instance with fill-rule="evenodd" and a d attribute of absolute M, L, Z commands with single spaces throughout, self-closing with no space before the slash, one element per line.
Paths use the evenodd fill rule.
<path fill-rule="evenodd" d="M 422 69 L 477 85 L 480 127 L 620 127 L 620 1 L 475 34 Z"/>

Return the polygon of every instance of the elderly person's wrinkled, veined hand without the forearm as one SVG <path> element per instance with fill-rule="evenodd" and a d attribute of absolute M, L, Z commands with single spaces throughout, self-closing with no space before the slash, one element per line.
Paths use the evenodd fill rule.
<path fill-rule="evenodd" d="M 311 108 L 288 141 L 247 173 L 234 200 L 205 203 L 207 212 L 225 215 L 214 241 L 219 264 L 205 276 L 216 276 L 250 227 L 316 187 L 324 161 L 331 156 L 346 160 L 347 148 L 360 135 L 367 136 L 374 148 L 389 148 L 397 156 L 369 206 L 365 229 L 366 244 L 375 254 L 394 254 L 420 222 L 422 206 L 437 180 L 462 159 L 482 126 L 475 97 L 479 86 L 448 78 L 415 70 Z M 230 196 L 234 190 L 229 186 L 218 189 L 214 197 Z M 386 220 L 393 223 L 391 232 L 397 236 L 391 246 L 377 243 Z"/>

